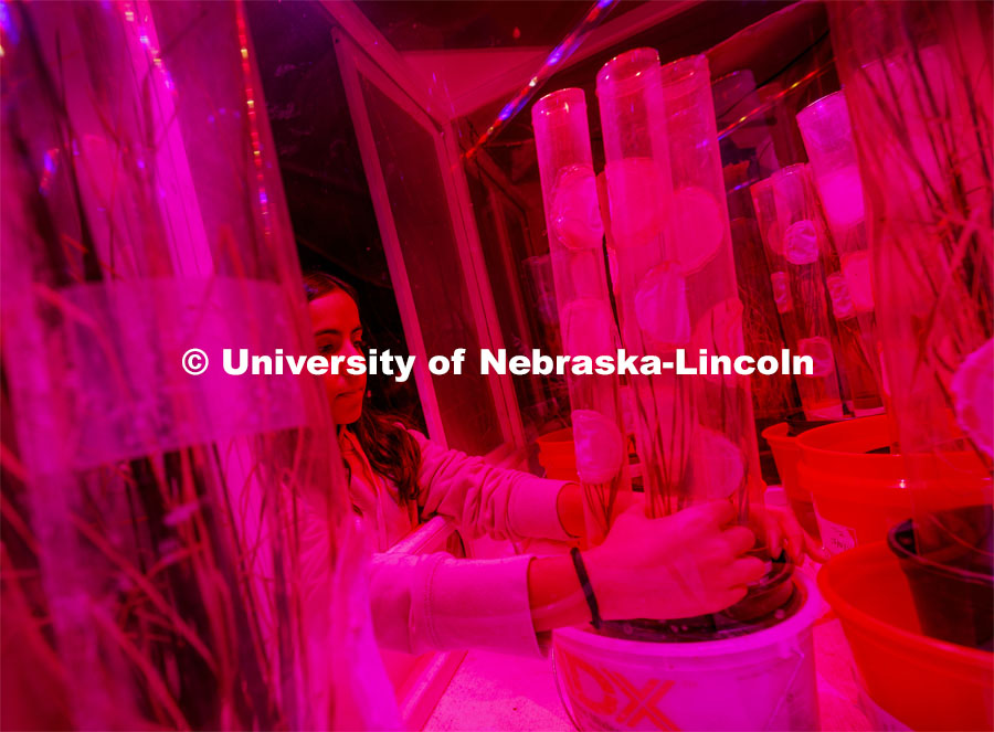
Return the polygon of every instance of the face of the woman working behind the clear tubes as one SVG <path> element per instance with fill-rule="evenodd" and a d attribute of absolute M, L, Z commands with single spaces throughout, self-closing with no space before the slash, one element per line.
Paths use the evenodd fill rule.
<path fill-rule="evenodd" d="M 314 339 L 318 353 L 325 358 L 332 356 L 362 354 L 362 326 L 359 322 L 359 308 L 351 297 L 336 290 L 322 295 L 308 305 Z M 366 374 L 353 376 L 346 372 L 346 363 L 339 367 L 339 373 L 330 371 L 325 374 L 325 390 L 331 405 L 335 424 L 352 424 L 362 414 L 362 396 L 366 393 Z"/>

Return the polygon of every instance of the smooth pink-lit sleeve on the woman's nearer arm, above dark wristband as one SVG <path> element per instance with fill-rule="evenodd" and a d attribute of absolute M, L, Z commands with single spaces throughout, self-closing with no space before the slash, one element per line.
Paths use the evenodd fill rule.
<path fill-rule="evenodd" d="M 498 560 L 374 554 L 372 619 L 381 646 L 408 654 L 483 648 L 541 657 L 528 603 L 530 556 Z"/>

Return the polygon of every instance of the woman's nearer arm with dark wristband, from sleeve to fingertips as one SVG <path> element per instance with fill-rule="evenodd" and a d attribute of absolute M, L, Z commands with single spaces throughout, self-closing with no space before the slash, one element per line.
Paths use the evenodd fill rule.
<path fill-rule="evenodd" d="M 663 519 L 624 513 L 600 547 L 582 553 L 601 617 L 689 617 L 723 609 L 765 567 L 740 558 L 754 537 L 728 502 Z M 456 560 L 377 554 L 371 580 L 377 637 L 419 654 L 488 648 L 539 655 L 547 633 L 582 625 L 590 608 L 569 556 Z"/>

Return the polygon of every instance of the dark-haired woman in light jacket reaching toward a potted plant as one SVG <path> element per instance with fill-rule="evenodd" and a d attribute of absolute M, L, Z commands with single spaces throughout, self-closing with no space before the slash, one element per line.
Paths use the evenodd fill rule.
<path fill-rule="evenodd" d="M 308 275 L 305 289 L 318 351 L 361 356 L 356 291 L 326 274 Z M 364 375 L 328 373 L 325 384 L 352 502 L 374 527 L 380 552 L 417 524 L 419 512 L 450 518 L 469 537 L 569 541 L 582 534 L 575 484 L 501 470 L 433 444 L 366 409 Z M 377 638 L 414 654 L 484 647 L 537 655 L 551 629 L 592 619 L 591 588 L 600 617 L 609 620 L 723 609 L 764 573 L 759 559 L 743 556 L 753 547 L 752 531 L 728 526 L 732 518 L 728 501 L 662 519 L 647 519 L 633 507 L 602 544 L 581 552 L 581 567 L 569 555 L 377 554 L 370 585 Z M 792 531 L 795 551 L 799 541 Z"/>

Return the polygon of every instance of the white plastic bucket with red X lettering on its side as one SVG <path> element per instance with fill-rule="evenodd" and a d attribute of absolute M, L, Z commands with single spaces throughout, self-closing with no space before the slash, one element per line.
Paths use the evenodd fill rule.
<path fill-rule="evenodd" d="M 557 683 L 582 730 L 816 730 L 814 582 L 794 574 L 801 608 L 757 633 L 642 643 L 556 630 Z"/>

